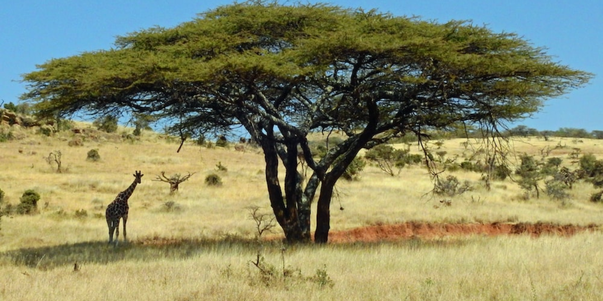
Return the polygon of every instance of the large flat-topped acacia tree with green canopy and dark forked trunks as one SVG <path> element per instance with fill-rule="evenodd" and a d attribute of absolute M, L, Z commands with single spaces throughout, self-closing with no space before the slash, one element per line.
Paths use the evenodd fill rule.
<path fill-rule="evenodd" d="M 327 4 L 226 5 L 115 46 L 37 66 L 23 98 L 42 115 L 153 114 L 182 137 L 242 126 L 264 152 L 288 241 L 311 239 L 318 193 L 318 243 L 328 240 L 333 188 L 362 148 L 458 123 L 496 134 L 592 77 L 513 33 Z M 332 130 L 347 138 L 315 157 L 308 134 Z"/>

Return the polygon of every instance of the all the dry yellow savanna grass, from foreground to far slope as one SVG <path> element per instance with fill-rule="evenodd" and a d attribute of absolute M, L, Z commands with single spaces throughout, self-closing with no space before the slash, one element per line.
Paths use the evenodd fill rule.
<path fill-rule="evenodd" d="M 424 167 L 389 176 L 368 165 L 359 181 L 339 182 L 331 231 L 404 222 L 596 226 L 571 236 L 442 235 L 283 246 L 274 239 L 278 228 L 267 235 L 271 239 L 255 239 L 250 206 L 271 211 L 263 157 L 253 147 L 240 152 L 186 143 L 176 152 L 177 139 L 150 132 L 139 140 L 96 133 L 69 146 L 77 134 L 14 131 L 17 139 L 0 143 L 3 206 L 19 203 L 28 189 L 41 199 L 39 213 L 1 219 L 1 300 L 601 299 L 603 205 L 589 201 L 597 190 L 587 182 L 576 183 L 564 201 L 546 194 L 526 199 L 510 179 L 492 182 L 488 191 L 479 173 L 458 170 L 450 174 L 470 181 L 473 190 L 443 205 L 429 193 L 433 184 Z M 432 147 L 460 161 L 472 151 L 465 141 Z M 600 158 L 602 143 L 533 137 L 511 146 L 518 155 L 540 155 L 549 146 L 549 156 L 575 169 L 569 158 L 575 148 Z M 98 150 L 99 161 L 86 160 L 90 149 Z M 57 151 L 62 173 L 46 161 Z M 135 170 L 145 176 L 130 197 L 129 242 L 109 246 L 104 209 L 131 184 Z M 152 181 L 161 172 L 194 175 L 171 195 L 168 184 Z M 221 187 L 205 184 L 212 173 Z"/>

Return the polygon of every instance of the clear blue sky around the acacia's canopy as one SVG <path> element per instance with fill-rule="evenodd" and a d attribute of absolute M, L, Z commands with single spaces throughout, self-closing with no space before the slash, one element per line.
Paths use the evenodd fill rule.
<path fill-rule="evenodd" d="M 325 1 L 326 2 L 326 1 Z M 116 36 L 154 25 L 172 27 L 232 1 L 54 0 L 6 1 L 0 10 L 0 102 L 25 92 L 21 75 L 51 58 L 109 49 Z M 603 130 L 603 1 L 601 0 L 336 0 L 343 7 L 376 8 L 397 16 L 472 20 L 496 32 L 517 33 L 545 46 L 554 60 L 595 73 L 586 87 L 551 99 L 517 124 L 540 130 Z"/>

